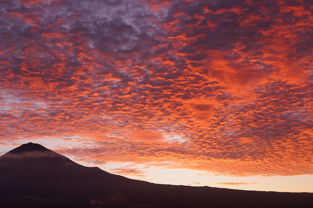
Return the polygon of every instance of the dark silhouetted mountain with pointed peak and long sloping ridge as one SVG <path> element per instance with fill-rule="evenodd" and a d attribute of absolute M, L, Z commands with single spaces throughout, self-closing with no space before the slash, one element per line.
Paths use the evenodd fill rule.
<path fill-rule="evenodd" d="M 81 166 L 34 143 L 0 157 L 0 207 L 312 207 L 313 193 L 154 184 Z"/>

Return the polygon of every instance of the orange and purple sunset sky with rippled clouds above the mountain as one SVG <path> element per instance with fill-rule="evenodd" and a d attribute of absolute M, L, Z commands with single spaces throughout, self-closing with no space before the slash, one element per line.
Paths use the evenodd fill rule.
<path fill-rule="evenodd" d="M 0 155 L 313 192 L 310 0 L 0 2 Z"/>

